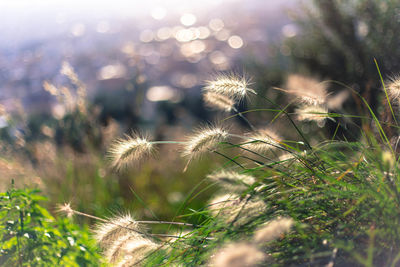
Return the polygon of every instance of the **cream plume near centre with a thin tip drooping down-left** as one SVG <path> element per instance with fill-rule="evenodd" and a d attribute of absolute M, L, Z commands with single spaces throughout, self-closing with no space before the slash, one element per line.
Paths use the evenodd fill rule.
<path fill-rule="evenodd" d="M 225 141 L 228 136 L 229 133 L 223 128 L 210 126 L 199 129 L 192 136 L 189 136 L 182 152 L 184 157 L 189 157 L 184 171 L 187 169 L 192 159 L 214 150 L 218 144 Z"/>

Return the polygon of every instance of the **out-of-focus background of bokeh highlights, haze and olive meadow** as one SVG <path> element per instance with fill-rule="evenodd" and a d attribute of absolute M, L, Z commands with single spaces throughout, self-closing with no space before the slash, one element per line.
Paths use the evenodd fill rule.
<path fill-rule="evenodd" d="M 376 110 L 373 58 L 385 78 L 399 71 L 399 14 L 397 0 L 2 0 L 2 190 L 14 179 L 44 190 L 50 205 L 71 201 L 99 216 L 128 209 L 165 219 L 179 208 L 201 209 L 214 192 L 204 177 L 223 159 L 183 173 L 179 148 L 161 147 L 156 159 L 116 174 L 107 164 L 110 142 L 131 130 L 182 140 L 200 122 L 227 117 L 201 98 L 204 82 L 220 72 L 245 74 L 282 105 L 283 94 L 271 88 L 290 73 L 336 80 Z M 336 108 L 362 113 L 343 91 L 329 86 L 341 96 Z M 258 101 L 239 109 L 265 108 Z M 274 114 L 246 116 L 262 127 Z M 240 119 L 230 124 L 248 130 Z M 357 138 L 353 124 L 361 122 L 326 128 Z"/>

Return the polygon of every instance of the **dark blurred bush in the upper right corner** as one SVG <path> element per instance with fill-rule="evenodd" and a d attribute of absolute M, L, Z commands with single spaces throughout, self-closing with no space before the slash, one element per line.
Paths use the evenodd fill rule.
<path fill-rule="evenodd" d="M 397 0 L 315 0 L 293 14 L 299 34 L 286 40 L 293 59 L 292 71 L 306 72 L 322 79 L 350 85 L 369 103 L 382 121 L 393 123 L 392 116 L 382 113 L 379 81 L 374 58 L 382 73 L 393 78 L 400 72 L 400 36 Z M 331 84 L 338 92 L 341 85 Z M 353 98 L 346 108 L 353 115 L 368 115 L 369 111 Z M 377 112 L 379 111 L 379 112 Z M 386 117 L 385 117 L 386 116 Z M 358 124 L 361 122 L 353 119 Z M 344 124 L 344 122 L 341 122 Z M 334 130 L 335 126 L 332 126 Z M 395 131 L 385 129 L 389 138 Z M 351 129 L 358 132 L 356 128 Z M 349 137 L 349 134 L 347 134 Z"/>

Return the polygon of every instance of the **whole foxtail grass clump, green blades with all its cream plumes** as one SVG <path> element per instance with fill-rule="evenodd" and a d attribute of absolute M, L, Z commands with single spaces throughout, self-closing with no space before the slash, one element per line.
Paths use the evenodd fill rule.
<path fill-rule="evenodd" d="M 303 79 L 307 78 L 301 78 L 298 86 L 318 85 L 313 80 L 304 82 Z M 176 216 L 170 218 L 171 222 L 142 222 L 170 225 L 163 229 L 167 232 L 164 237 L 147 231 L 132 237 L 131 230 L 126 229 L 125 223 L 119 223 L 120 219 L 111 218 L 105 223 L 101 222 L 104 219 L 99 219 L 99 227 L 104 227 L 106 235 L 120 229 L 104 248 L 106 255 L 113 249 L 118 257 L 107 258 L 117 266 L 400 264 L 398 155 L 377 115 L 367 106 L 371 111 L 371 127 L 364 129 L 372 130 L 364 131 L 360 141 L 336 140 L 336 131 L 332 136 L 320 137 L 318 129 L 324 127 L 327 119 L 349 117 L 329 113 L 327 99 L 320 97 L 309 101 L 318 93 L 327 97 L 325 86 L 317 87 L 324 91 L 317 94 L 305 91 L 302 95 L 302 90 L 296 90 L 296 99 L 291 105 L 299 109 L 290 113 L 247 88 L 246 81 L 240 77 L 217 77 L 216 81 L 208 83 L 204 93 L 210 106 L 244 118 L 249 132 L 207 126 L 189 135 L 187 140 L 146 139 L 141 142 L 152 146 L 160 143 L 181 146 L 188 170 L 200 155 L 220 157 L 226 162 L 221 171 L 206 178 L 209 186 L 197 194 L 189 194 Z M 275 111 L 274 120 L 286 118 L 285 131 L 291 131 L 291 136 L 296 133 L 297 139 L 278 137 L 269 131 L 272 126 L 258 128 L 261 123 L 252 123 L 244 117 L 245 112 L 239 113 L 234 105 L 249 95 L 261 97 L 266 105 L 272 105 L 261 111 Z M 224 100 L 222 104 L 221 99 Z M 308 124 L 308 129 L 313 130 L 305 133 L 302 124 Z M 318 127 L 310 127 L 312 124 Z M 279 135 L 286 134 L 279 131 Z M 120 140 L 118 144 L 125 149 L 112 148 L 114 165 L 115 161 L 138 160 L 138 155 L 144 151 L 137 142 L 129 146 L 131 139 L 124 142 Z M 128 166 L 127 162 L 122 163 Z M 185 208 L 202 192 L 212 188 L 214 191 L 217 188 L 217 194 L 208 205 Z M 141 224 L 131 220 L 130 223 Z M 177 223 L 180 221 L 192 224 Z M 113 230 L 107 226 L 110 223 Z M 135 242 L 144 244 L 141 250 L 127 249 Z"/>

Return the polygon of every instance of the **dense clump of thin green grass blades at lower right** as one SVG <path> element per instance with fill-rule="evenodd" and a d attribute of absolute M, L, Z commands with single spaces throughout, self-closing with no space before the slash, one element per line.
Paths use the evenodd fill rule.
<path fill-rule="evenodd" d="M 397 266 L 400 259 L 400 170 L 393 154 L 377 145 L 328 142 L 273 168 L 248 168 L 262 190 L 244 193 L 261 197 L 267 212 L 235 226 L 207 209 L 200 228 L 167 244 L 166 253 L 151 255 L 148 266 L 199 266 L 228 241 L 252 242 L 255 227 L 279 216 L 296 221 L 290 234 L 265 244 L 273 266 Z M 246 214 L 242 214 L 246 216 Z M 209 238 L 211 237 L 211 239 Z M 338 253 L 333 253 L 338 249 Z M 335 256 L 333 256 L 335 254 Z"/>

